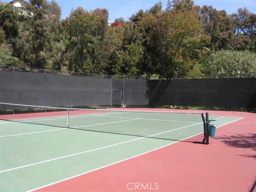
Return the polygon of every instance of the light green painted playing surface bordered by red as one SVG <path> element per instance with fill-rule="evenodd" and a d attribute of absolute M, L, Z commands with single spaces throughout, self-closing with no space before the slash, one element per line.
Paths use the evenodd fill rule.
<path fill-rule="evenodd" d="M 65 118 L 61 120 L 59 118 L 61 117 L 58 117 L 55 126 L 40 125 L 41 118 L 21 120 L 39 124 L 0 121 L 1 192 L 33 190 L 177 142 L 177 140 L 129 135 L 138 130 L 134 127 L 134 121 L 140 125 L 140 130 L 143 130 L 136 135 L 141 133 L 157 135 L 159 129 L 156 127 L 167 129 L 165 126 L 168 122 L 156 120 L 157 116 L 147 116 L 147 118 L 141 115 L 140 118 L 135 118 L 120 114 L 116 117 L 101 116 L 97 117 L 97 120 L 104 123 L 97 125 L 90 124 L 95 122 L 95 119 L 92 122 L 86 121 L 88 124 L 80 125 L 82 116 L 74 118 L 73 122 L 70 118 L 69 123 L 72 128 L 87 127 L 88 130 L 97 128 L 100 131 L 108 129 L 105 130 L 106 132 L 115 129 L 122 134 L 56 127 L 58 124 L 59 126 L 66 124 Z M 210 119 L 216 119 L 214 124 L 222 126 L 240 118 L 210 116 Z M 47 120 L 44 119 L 45 121 Z M 50 118 L 49 124 L 52 122 L 53 119 Z M 190 122 L 191 126 L 180 123 L 178 119 L 172 122 L 174 125 L 172 134 L 175 135 L 177 129 L 178 140 L 200 133 L 189 132 L 197 122 Z M 164 137 L 168 137 L 168 134 L 170 132 Z M 198 144 L 192 145 L 196 148 Z"/>

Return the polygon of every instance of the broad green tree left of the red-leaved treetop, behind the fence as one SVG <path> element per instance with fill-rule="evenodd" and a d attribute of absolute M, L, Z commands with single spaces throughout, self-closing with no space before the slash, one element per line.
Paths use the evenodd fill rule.
<path fill-rule="evenodd" d="M 108 11 L 88 12 L 81 7 L 72 10 L 66 19 L 69 69 L 78 72 L 104 73 L 104 43 L 108 28 Z"/>

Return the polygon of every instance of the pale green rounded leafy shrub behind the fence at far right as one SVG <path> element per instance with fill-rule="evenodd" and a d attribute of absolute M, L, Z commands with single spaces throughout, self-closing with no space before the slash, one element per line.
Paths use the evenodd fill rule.
<path fill-rule="evenodd" d="M 213 51 L 202 60 L 205 74 L 255 74 L 256 54 L 249 51 Z"/>

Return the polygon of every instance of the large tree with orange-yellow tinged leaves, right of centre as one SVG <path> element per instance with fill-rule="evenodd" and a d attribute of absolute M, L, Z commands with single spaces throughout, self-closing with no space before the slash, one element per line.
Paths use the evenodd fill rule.
<path fill-rule="evenodd" d="M 166 16 L 166 59 L 158 66 L 161 76 L 186 75 L 205 53 L 210 38 L 194 11 L 172 11 Z"/>

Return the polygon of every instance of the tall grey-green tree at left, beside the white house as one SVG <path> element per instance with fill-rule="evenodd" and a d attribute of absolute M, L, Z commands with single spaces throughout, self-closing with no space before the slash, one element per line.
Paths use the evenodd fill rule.
<path fill-rule="evenodd" d="M 19 36 L 12 40 L 14 56 L 31 67 L 61 70 L 63 35 L 60 7 L 54 1 L 30 0 L 26 9 L 32 16 L 23 16 Z"/>

